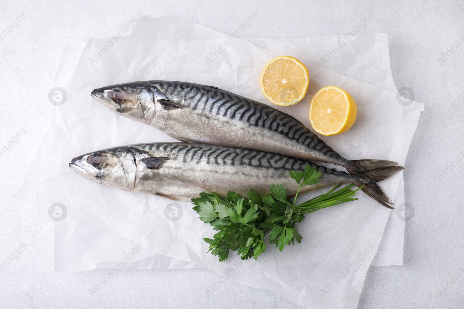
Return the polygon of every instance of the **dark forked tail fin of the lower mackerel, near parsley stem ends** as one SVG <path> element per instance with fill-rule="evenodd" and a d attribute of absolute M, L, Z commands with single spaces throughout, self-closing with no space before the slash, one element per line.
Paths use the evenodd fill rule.
<path fill-rule="evenodd" d="M 393 165 L 368 170 L 358 174 L 361 177 L 360 183 L 356 183 L 358 187 L 364 186 L 361 190 L 372 197 L 379 204 L 393 209 L 393 202 L 390 200 L 388 195 L 382 188 L 377 184 L 378 181 L 382 181 L 392 177 L 400 170 L 404 170 L 403 166 Z"/>

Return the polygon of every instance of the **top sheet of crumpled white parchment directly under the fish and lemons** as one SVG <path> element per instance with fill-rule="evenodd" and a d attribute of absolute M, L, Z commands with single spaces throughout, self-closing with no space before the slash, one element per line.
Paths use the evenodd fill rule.
<path fill-rule="evenodd" d="M 208 56 L 226 41 L 229 44 L 221 57 Z M 46 208 L 62 202 L 72 217 L 106 232 L 216 271 L 226 279 L 271 290 L 304 307 L 356 307 L 365 273 L 391 213 L 366 195 L 358 194 L 360 200 L 350 205 L 308 216 L 298 227 L 302 244 L 282 253 L 268 246 L 258 261 L 243 262 L 232 256 L 219 263 L 206 253 L 202 240 L 213 231 L 198 219 L 191 203 L 179 202 L 182 217 L 169 221 L 164 211 L 171 201 L 100 186 L 68 167 L 71 158 L 79 154 L 130 144 L 134 139 L 174 140 L 106 110 L 90 98 L 93 88 L 136 80 L 183 80 L 213 84 L 266 103 L 259 90 L 259 75 L 264 64 L 279 54 L 184 20 L 148 17 L 139 21 L 130 36 L 113 44 L 105 39 L 92 40 L 84 53 L 98 54 L 100 49 L 105 51 L 100 52 L 102 57 L 83 57 L 77 64 L 65 87 L 68 101 L 57 107 L 17 196 Z M 308 95 L 294 107 L 279 109 L 309 126 L 311 95 L 327 85 L 344 88 L 358 105 L 358 118 L 348 132 L 326 139 L 328 144 L 351 159 L 383 158 L 404 164 L 422 104 L 400 105 L 393 91 L 305 64 L 313 75 Z M 381 183 L 392 197 L 400 178 L 399 174 Z"/>

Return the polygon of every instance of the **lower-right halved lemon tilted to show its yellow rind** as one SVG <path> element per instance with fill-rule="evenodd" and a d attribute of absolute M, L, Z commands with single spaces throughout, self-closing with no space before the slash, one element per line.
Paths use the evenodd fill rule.
<path fill-rule="evenodd" d="M 319 89 L 309 105 L 311 126 L 325 136 L 348 131 L 356 120 L 356 114 L 356 103 L 351 95 L 335 86 Z"/>

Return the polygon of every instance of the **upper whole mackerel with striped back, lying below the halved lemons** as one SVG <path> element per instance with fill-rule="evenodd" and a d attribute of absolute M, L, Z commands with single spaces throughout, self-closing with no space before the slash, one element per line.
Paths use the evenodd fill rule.
<path fill-rule="evenodd" d="M 350 173 L 397 165 L 348 160 L 300 121 L 261 102 L 189 82 L 130 82 L 94 89 L 98 102 L 185 142 L 269 151 L 345 167 Z"/>

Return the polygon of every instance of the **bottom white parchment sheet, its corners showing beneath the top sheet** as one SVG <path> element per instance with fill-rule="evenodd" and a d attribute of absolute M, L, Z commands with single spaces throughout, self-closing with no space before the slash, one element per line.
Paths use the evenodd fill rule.
<path fill-rule="evenodd" d="M 125 24 L 117 26 L 108 32 L 101 33 L 97 38 L 111 38 L 124 27 Z M 126 35 L 130 35 L 130 29 Z M 332 70 L 334 72 L 360 79 L 367 83 L 374 84 L 378 87 L 391 89 L 394 91 L 395 86 L 391 81 L 391 70 L 388 57 L 388 41 L 385 33 L 367 33 L 359 37 L 348 38 L 346 36 L 319 36 L 312 38 L 286 38 L 286 39 L 263 39 L 263 38 L 247 38 L 245 41 L 255 44 L 261 48 L 272 50 L 279 54 L 298 53 L 297 57 L 322 68 Z M 329 59 L 325 54 L 325 50 L 332 50 L 334 46 L 343 46 L 342 52 L 330 55 Z M 56 74 L 56 85 L 65 87 L 71 79 L 75 71 L 75 67 L 82 50 L 86 43 L 69 42 L 62 55 L 62 61 Z M 322 56 L 321 56 L 322 55 Z M 367 58 L 366 55 L 369 55 Z M 336 57 L 335 57 L 336 56 Z M 329 59 L 330 61 L 327 61 Z M 364 61 L 364 62 L 363 62 Z M 362 67 L 360 70 L 354 70 L 353 67 Z M 403 184 L 400 183 L 400 190 Z M 400 194 L 400 193 L 398 193 Z M 69 216 L 71 217 L 71 216 Z M 75 219 L 73 219 L 75 220 Z M 98 244 L 107 244 L 110 238 L 107 233 L 99 233 L 97 227 L 86 224 L 85 221 L 79 221 L 81 227 L 86 229 L 95 229 L 95 233 L 88 233 L 86 239 L 92 246 L 79 246 L 82 244 L 79 238 L 68 237 L 72 233 L 76 233 L 74 222 L 70 220 L 59 222 L 56 224 L 55 233 L 55 270 L 56 271 L 83 271 L 94 269 L 102 266 L 103 260 L 107 259 L 106 255 L 95 254 L 95 248 Z M 66 238 L 66 240 L 64 240 Z M 379 249 L 375 254 L 373 265 L 400 265 L 403 263 L 403 239 L 404 239 L 404 221 L 399 220 L 395 211 L 392 211 L 382 240 L 379 244 Z M 72 244 L 75 241 L 79 244 Z M 115 246 L 126 246 L 125 250 L 130 251 L 133 247 L 129 242 L 122 244 L 116 241 Z M 85 245 L 85 243 L 84 243 Z M 99 249 L 100 251 L 102 249 Z M 93 253 L 92 253 L 93 252 Z M 153 256 L 156 261 L 164 261 L 160 253 Z M 168 261 L 171 258 L 168 258 Z M 174 259 L 175 260 L 175 259 Z M 110 262 L 110 260 L 108 260 Z M 163 265 L 173 267 L 173 264 L 153 263 L 153 264 L 137 264 L 137 268 L 142 265 L 148 268 L 159 268 Z M 175 263 L 174 265 L 182 267 L 191 267 L 193 264 Z M 126 265 L 126 268 L 129 265 Z"/>

